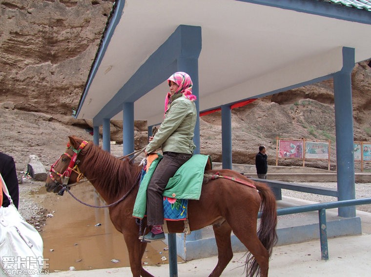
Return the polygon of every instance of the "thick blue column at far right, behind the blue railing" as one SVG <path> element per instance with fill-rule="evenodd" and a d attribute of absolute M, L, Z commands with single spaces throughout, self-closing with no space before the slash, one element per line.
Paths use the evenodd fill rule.
<path fill-rule="evenodd" d="M 333 76 L 338 200 L 355 199 L 351 99 L 351 71 L 353 67 L 354 48 L 343 47 L 343 68 Z M 354 217 L 355 206 L 340 207 L 338 214 L 341 217 Z"/>

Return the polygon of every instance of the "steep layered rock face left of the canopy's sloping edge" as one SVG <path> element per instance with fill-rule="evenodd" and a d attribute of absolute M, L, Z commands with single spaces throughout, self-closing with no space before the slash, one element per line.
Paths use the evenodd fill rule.
<path fill-rule="evenodd" d="M 114 0 L 1 0 L 1 100 L 71 114 Z"/>

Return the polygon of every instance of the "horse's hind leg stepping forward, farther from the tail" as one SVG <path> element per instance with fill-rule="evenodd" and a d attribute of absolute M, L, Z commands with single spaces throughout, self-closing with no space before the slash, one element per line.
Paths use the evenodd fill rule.
<path fill-rule="evenodd" d="M 230 233 L 232 229 L 227 222 L 223 222 L 221 225 L 213 225 L 212 227 L 218 247 L 218 263 L 209 277 L 219 277 L 233 257 L 232 245 L 230 242 Z"/>

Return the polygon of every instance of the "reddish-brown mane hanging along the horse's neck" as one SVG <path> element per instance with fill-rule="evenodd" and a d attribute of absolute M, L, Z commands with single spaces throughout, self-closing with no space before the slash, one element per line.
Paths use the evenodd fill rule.
<path fill-rule="evenodd" d="M 81 154 L 84 155 L 85 175 L 99 185 L 109 198 L 122 196 L 138 183 L 141 168 L 129 162 L 128 158 L 119 160 L 93 143 L 83 148 Z"/>

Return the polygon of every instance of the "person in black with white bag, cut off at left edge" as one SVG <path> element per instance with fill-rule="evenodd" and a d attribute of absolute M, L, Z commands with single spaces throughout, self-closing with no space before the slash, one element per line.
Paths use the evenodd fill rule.
<path fill-rule="evenodd" d="M 8 188 L 10 197 L 12 198 L 14 205 L 18 209 L 19 188 L 16 164 L 14 163 L 13 157 L 2 152 L 0 152 L 0 173 L 2 178 L 4 179 L 5 185 Z M 3 207 L 7 207 L 9 206 L 9 204 L 9 199 L 7 197 L 3 197 L 1 205 Z"/>

